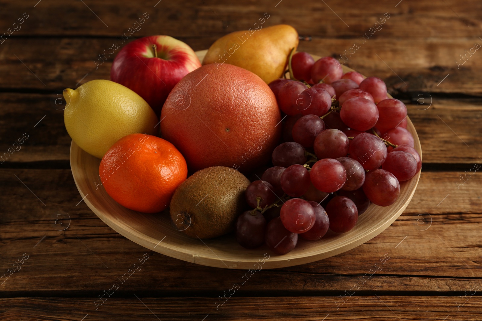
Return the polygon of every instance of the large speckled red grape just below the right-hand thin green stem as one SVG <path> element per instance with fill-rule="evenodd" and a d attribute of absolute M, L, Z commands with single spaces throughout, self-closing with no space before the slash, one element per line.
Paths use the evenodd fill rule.
<path fill-rule="evenodd" d="M 350 141 L 350 157 L 357 160 L 364 169 L 380 167 L 387 158 L 385 143 L 369 133 L 362 133 Z"/>

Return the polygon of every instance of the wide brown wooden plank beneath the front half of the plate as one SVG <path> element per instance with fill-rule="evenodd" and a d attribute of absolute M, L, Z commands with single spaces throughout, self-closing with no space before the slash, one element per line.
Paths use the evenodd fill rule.
<path fill-rule="evenodd" d="M 482 277 L 478 174 L 457 190 L 458 173 L 422 173 L 405 213 L 374 239 L 318 262 L 260 270 L 257 281 L 246 282 L 241 291 L 339 295 L 363 282 L 362 276 L 371 275 L 370 269 L 378 269 L 375 263 L 388 254 L 382 270 L 369 277 L 361 293 L 463 292 Z M 69 170 L 4 169 L 0 186 L 0 275 L 24 254 L 29 256 L 21 270 L 0 282 L 5 295 L 96 296 L 99 288 L 107 290 L 145 253 L 149 258 L 142 270 L 120 289 L 124 295 L 149 291 L 161 296 L 217 296 L 246 272 L 187 263 L 125 239 L 81 202 Z"/>

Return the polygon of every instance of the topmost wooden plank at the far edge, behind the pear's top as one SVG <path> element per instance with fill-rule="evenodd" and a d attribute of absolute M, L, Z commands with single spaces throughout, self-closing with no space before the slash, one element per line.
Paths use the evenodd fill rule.
<path fill-rule="evenodd" d="M 480 1 L 398 1 L 362 0 L 347 5 L 337 1 L 310 1 L 300 6 L 295 1 L 259 3 L 255 0 L 166 1 L 140 5 L 130 1 L 93 0 L 39 3 L 0 1 L 0 30 L 28 14 L 27 20 L 11 37 L 27 35 L 120 36 L 144 13 L 149 18 L 134 32 L 135 37 L 166 34 L 173 37 L 221 36 L 253 27 L 263 13 L 269 13 L 266 26 L 290 24 L 300 33 L 319 37 L 358 37 L 383 18 L 389 19 L 375 33 L 385 38 L 477 37 L 480 35 Z M 184 23 L 184 22 L 189 23 Z M 320 23 L 322 21 L 322 23 Z M 410 23 L 407 23 L 410 21 Z M 443 21 L 444 23 L 440 23 Z M 18 29 L 19 27 L 16 26 Z M 139 27 L 137 27 L 139 28 Z M 378 27 L 379 28 L 379 27 Z"/>

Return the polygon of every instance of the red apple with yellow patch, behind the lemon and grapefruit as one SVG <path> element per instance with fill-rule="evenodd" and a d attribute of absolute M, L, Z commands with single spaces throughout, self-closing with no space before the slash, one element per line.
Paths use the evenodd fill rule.
<path fill-rule="evenodd" d="M 117 54 L 110 80 L 134 90 L 158 116 L 167 95 L 182 77 L 201 67 L 196 53 L 169 36 L 136 39 Z"/>

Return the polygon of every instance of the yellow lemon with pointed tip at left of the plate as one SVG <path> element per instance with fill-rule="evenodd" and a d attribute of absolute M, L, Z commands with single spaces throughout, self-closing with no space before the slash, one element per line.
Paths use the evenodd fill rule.
<path fill-rule="evenodd" d="M 144 99 L 110 80 L 91 80 L 65 89 L 67 132 L 87 153 L 102 158 L 120 138 L 136 133 L 157 135 L 158 119 Z"/>

